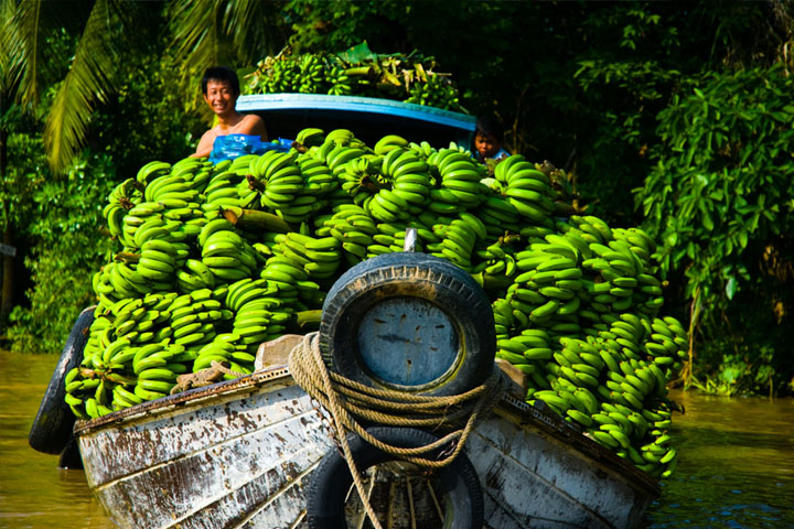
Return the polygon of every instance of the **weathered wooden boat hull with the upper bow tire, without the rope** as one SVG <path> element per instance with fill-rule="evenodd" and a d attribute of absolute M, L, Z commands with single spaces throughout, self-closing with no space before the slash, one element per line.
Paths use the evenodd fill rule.
<path fill-rule="evenodd" d="M 337 367 L 350 360 L 342 349 L 356 347 L 357 359 L 341 368 L 355 377 L 367 366 L 367 376 L 385 387 L 430 393 L 476 387 L 478 371 L 494 367 L 490 306 L 471 276 L 442 259 L 384 255 L 334 283 L 316 343 L 324 339 L 331 350 L 336 344 L 331 361 Z M 454 336 L 443 339 L 447 331 Z M 412 338 L 397 339 L 406 333 Z M 351 336 L 357 336 L 355 344 Z M 410 377 L 433 373 L 437 386 L 417 378 L 407 385 L 406 366 L 419 363 L 412 345 L 426 358 L 421 373 Z M 330 412 L 298 384 L 283 350 L 269 359 L 269 368 L 251 375 L 75 424 L 88 485 L 119 527 L 371 527 L 357 493 L 344 499 L 352 483 L 342 475 L 350 475 L 346 467 L 324 464 L 337 452 Z M 463 445 L 464 456 L 453 462 L 468 465 L 457 467 L 460 475 L 448 478 L 452 471 L 427 472 L 396 458 L 367 466 L 354 454 L 365 473 L 366 500 L 384 527 L 469 529 L 481 527 L 480 520 L 490 529 L 640 525 L 659 495 L 654 479 L 559 415 L 516 399 L 509 384 L 498 391 Z M 329 468 L 341 472 L 329 475 Z M 313 500 L 330 496 L 340 497 L 344 517 L 331 526 L 311 511 Z M 469 519 L 461 514 L 466 505 L 474 512 Z"/>

